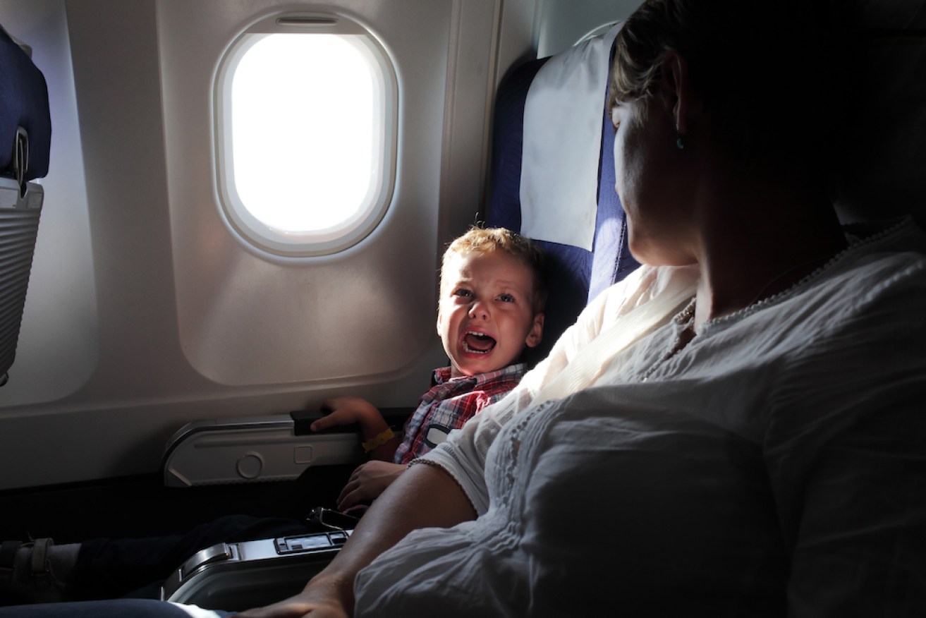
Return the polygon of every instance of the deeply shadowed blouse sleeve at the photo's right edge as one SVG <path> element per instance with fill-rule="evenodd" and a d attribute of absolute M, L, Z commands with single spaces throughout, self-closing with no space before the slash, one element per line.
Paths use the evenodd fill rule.
<path fill-rule="evenodd" d="M 926 615 L 926 269 L 895 271 L 784 367 L 766 454 L 789 616 Z"/>

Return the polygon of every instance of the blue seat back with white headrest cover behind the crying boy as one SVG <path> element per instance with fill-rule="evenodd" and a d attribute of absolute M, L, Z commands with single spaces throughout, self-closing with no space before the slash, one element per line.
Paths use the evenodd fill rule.
<path fill-rule="evenodd" d="M 486 224 L 531 237 L 549 268 L 544 341 L 526 353 L 529 363 L 544 359 L 594 296 L 639 265 L 614 190 L 607 95 L 616 28 L 520 65 L 496 94 Z"/>

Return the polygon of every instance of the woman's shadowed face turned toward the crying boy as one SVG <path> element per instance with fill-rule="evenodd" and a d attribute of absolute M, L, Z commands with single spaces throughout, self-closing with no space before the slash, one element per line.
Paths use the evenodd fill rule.
<path fill-rule="evenodd" d="M 679 158 L 672 115 L 657 97 L 620 103 L 614 122 L 615 189 L 627 214 L 633 257 L 644 264 L 682 266 L 694 261 L 689 221 L 691 195 L 678 182 Z"/>

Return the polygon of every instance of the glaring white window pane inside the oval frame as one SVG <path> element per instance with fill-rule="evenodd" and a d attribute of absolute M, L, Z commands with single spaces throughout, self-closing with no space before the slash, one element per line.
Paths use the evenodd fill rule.
<path fill-rule="evenodd" d="M 357 47 L 334 34 L 275 34 L 242 57 L 232 160 L 238 195 L 258 221 L 306 232 L 357 215 L 378 162 L 373 80 Z"/>

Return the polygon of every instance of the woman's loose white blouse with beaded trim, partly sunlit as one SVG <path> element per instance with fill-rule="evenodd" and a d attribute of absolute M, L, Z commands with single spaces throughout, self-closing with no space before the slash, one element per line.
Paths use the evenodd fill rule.
<path fill-rule="evenodd" d="M 696 268 L 610 288 L 426 456 L 479 517 L 370 564 L 356 615 L 926 615 L 924 254 L 850 237 L 674 355 Z"/>

